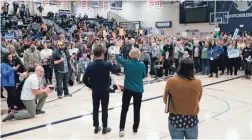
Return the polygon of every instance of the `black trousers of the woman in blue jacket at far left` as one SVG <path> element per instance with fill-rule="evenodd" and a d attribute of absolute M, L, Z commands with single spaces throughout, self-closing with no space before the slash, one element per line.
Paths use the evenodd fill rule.
<path fill-rule="evenodd" d="M 4 87 L 7 91 L 7 104 L 8 107 L 13 110 L 14 106 L 16 104 L 16 87 L 11 86 L 11 87 Z"/>

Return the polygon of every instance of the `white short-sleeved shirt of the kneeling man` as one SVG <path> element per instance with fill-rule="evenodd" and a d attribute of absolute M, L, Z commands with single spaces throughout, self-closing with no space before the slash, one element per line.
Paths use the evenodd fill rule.
<path fill-rule="evenodd" d="M 35 95 L 32 93 L 32 89 L 39 89 L 39 78 L 35 73 L 31 74 L 23 85 L 21 92 L 21 100 L 33 100 Z"/>

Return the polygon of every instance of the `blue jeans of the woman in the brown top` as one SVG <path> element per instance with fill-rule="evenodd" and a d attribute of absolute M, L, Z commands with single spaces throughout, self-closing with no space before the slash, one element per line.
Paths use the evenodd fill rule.
<path fill-rule="evenodd" d="M 172 139 L 198 139 L 198 125 L 193 128 L 181 129 L 169 123 L 169 131 Z"/>

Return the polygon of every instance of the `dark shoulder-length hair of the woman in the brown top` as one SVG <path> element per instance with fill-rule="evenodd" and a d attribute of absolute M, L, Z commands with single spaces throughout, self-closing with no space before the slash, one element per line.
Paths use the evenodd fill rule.
<path fill-rule="evenodd" d="M 186 78 L 188 80 L 194 80 L 194 62 L 191 58 L 185 57 L 180 60 L 178 71 L 178 76 Z"/>

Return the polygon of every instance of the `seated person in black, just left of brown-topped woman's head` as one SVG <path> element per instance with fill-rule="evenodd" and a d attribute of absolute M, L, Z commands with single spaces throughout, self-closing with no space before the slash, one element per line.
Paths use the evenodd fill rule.
<path fill-rule="evenodd" d="M 164 75 L 167 77 L 169 75 L 173 75 L 175 73 L 175 64 L 172 62 L 172 58 L 169 56 L 169 52 L 165 53 L 163 59 L 163 68 L 165 70 Z"/>

